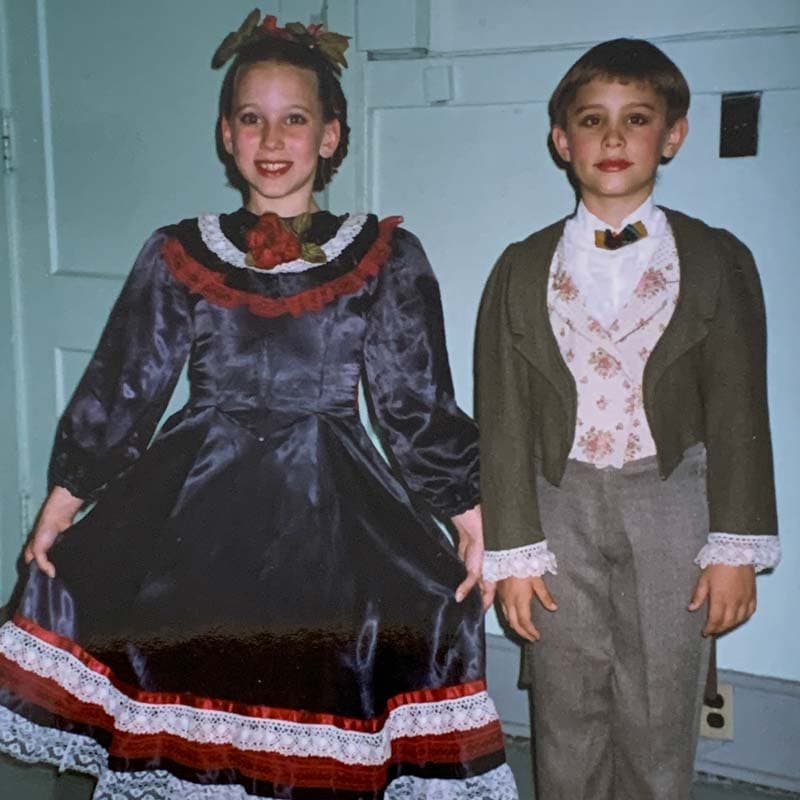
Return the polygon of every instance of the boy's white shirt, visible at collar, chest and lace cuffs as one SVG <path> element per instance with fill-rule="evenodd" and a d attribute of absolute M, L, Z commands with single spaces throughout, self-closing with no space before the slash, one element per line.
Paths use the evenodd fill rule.
<path fill-rule="evenodd" d="M 617 250 L 605 250 L 595 245 L 595 231 L 610 226 L 592 214 L 583 202 L 579 203 L 575 215 L 564 225 L 561 245 L 570 275 L 589 313 L 605 326 L 611 325 L 616 319 L 664 237 L 672 236 L 666 215 L 655 205 L 652 195 L 622 221 L 618 230 L 634 222 L 644 223 L 647 236 Z M 554 257 L 551 273 L 555 261 Z M 756 571 L 761 571 L 775 567 L 780 555 L 777 535 L 747 536 L 711 532 L 694 563 L 701 568 L 710 564 L 752 564 Z M 548 572 L 555 574 L 557 566 L 556 556 L 548 549 L 545 539 L 510 550 L 488 550 L 484 558 L 483 577 L 496 581 L 511 576 L 524 578 Z"/>

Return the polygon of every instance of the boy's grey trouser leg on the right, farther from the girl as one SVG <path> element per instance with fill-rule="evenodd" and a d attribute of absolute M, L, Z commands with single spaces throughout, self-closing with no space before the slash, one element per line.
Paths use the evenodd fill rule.
<path fill-rule="evenodd" d="M 705 609 L 687 611 L 708 534 L 704 476 L 702 452 L 666 481 L 653 471 L 618 476 L 633 557 L 612 595 L 614 800 L 686 800 L 691 791 L 710 646 Z M 617 602 L 627 601 L 622 592 L 635 603 Z"/>

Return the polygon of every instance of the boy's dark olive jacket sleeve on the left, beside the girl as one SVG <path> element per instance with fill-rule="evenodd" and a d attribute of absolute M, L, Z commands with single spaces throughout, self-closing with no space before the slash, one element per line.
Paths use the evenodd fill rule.
<path fill-rule="evenodd" d="M 546 546 L 540 544 L 545 534 L 536 494 L 530 367 L 514 348 L 508 315 L 513 263 L 511 245 L 489 277 L 478 314 L 476 378 L 487 551 Z"/>

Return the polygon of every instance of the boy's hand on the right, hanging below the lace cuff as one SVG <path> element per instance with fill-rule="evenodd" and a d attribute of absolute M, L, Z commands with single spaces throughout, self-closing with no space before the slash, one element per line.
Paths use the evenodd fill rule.
<path fill-rule="evenodd" d="M 697 580 L 689 611 L 708 600 L 708 619 L 703 636 L 725 633 L 741 625 L 756 610 L 756 571 L 751 565 L 732 567 L 710 564 Z"/>

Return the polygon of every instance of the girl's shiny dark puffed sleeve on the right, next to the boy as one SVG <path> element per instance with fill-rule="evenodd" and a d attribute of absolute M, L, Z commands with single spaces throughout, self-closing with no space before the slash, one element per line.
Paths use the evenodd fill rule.
<path fill-rule="evenodd" d="M 479 502 L 478 432 L 456 405 L 439 285 L 419 240 L 397 229 L 365 339 L 374 415 L 409 488 L 435 514 Z"/>

